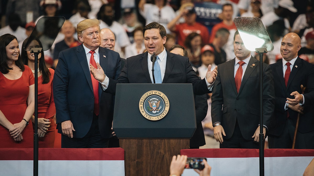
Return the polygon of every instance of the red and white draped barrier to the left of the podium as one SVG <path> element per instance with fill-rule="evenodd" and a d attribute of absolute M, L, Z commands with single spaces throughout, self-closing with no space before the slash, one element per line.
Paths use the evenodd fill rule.
<path fill-rule="evenodd" d="M 122 148 L 39 148 L 38 175 L 124 176 Z M 0 175 L 33 175 L 32 148 L 0 148 Z"/>

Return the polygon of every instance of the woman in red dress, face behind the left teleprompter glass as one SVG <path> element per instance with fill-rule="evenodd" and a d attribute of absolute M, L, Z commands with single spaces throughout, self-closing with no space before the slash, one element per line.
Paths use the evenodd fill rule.
<path fill-rule="evenodd" d="M 30 53 L 31 48 L 42 48 L 38 39 L 27 38 L 24 40 L 21 58 L 28 65 L 35 76 L 35 56 Z M 53 117 L 56 114 L 55 102 L 52 93 L 53 69 L 48 69 L 45 64 L 44 51 L 38 54 L 38 136 L 40 148 L 53 148 L 55 141 L 56 122 Z M 35 116 L 31 118 L 35 121 Z"/>

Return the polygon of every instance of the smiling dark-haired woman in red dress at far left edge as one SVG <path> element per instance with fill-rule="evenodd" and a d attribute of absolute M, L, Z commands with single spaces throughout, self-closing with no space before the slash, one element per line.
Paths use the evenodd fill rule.
<path fill-rule="evenodd" d="M 0 36 L 0 71 L 0 146 L 33 148 L 34 76 L 14 35 Z"/>

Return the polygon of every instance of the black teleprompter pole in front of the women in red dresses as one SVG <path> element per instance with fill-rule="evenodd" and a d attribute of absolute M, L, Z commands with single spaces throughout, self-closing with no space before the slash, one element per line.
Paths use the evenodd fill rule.
<path fill-rule="evenodd" d="M 31 48 L 30 53 L 35 55 L 35 133 L 34 133 L 34 176 L 38 176 L 38 54 L 42 48 Z"/>

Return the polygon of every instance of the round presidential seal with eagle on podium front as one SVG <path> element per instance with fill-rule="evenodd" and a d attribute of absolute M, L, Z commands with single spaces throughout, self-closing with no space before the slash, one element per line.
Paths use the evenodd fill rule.
<path fill-rule="evenodd" d="M 148 120 L 160 120 L 169 111 L 168 98 L 160 91 L 148 91 L 139 101 L 139 111 Z"/>

